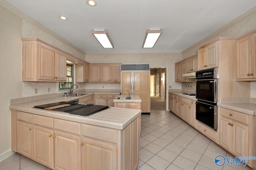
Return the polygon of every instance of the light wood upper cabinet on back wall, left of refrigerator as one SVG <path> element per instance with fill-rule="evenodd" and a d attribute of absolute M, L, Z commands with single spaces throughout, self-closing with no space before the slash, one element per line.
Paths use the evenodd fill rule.
<path fill-rule="evenodd" d="M 90 64 L 90 82 L 120 82 L 120 64 Z"/>

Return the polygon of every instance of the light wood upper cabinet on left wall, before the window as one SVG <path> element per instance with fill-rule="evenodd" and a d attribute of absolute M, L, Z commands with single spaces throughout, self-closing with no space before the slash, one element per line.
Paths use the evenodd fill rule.
<path fill-rule="evenodd" d="M 66 81 L 66 56 L 39 39 L 22 39 L 22 81 Z"/>

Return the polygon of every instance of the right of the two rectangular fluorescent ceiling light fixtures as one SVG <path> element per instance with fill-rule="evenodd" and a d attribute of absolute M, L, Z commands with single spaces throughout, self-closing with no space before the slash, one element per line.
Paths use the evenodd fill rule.
<path fill-rule="evenodd" d="M 149 29 L 146 33 L 142 48 L 153 48 L 161 34 L 161 29 Z"/>

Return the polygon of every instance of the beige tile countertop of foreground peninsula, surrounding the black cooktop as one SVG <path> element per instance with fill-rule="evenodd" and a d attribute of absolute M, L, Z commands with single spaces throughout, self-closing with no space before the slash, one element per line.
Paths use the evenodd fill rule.
<path fill-rule="evenodd" d="M 91 93 L 92 94 L 92 93 Z M 141 110 L 137 109 L 124 109 L 118 107 L 110 107 L 106 110 L 100 111 L 98 113 L 92 114 L 90 116 L 74 115 L 69 113 L 64 113 L 60 111 L 47 111 L 44 109 L 34 108 L 37 105 L 50 104 L 55 102 L 68 102 L 71 100 L 84 98 L 90 96 L 90 93 L 79 97 L 54 97 L 42 100 L 36 100 L 32 102 L 26 102 L 21 104 L 10 105 L 9 108 L 18 111 L 24 111 L 28 113 L 33 113 L 37 115 L 44 115 L 53 118 L 65 119 L 70 121 L 76 121 L 79 123 L 87 123 L 90 125 L 97 125 L 102 127 L 109 127 L 113 129 L 124 129 L 129 125 L 136 117 L 141 114 Z"/>

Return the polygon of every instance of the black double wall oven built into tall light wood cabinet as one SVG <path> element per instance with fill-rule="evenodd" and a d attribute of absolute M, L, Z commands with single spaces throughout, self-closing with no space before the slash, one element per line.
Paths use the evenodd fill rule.
<path fill-rule="evenodd" d="M 196 72 L 196 119 L 217 131 L 217 68 Z"/>

